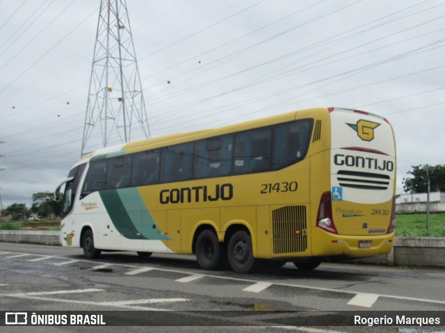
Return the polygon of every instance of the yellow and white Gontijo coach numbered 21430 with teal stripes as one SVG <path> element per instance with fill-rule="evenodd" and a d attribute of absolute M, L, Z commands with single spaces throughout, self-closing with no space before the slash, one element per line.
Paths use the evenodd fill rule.
<path fill-rule="evenodd" d="M 195 254 L 201 268 L 390 252 L 396 147 L 378 115 L 312 108 L 99 149 L 65 184 L 61 243 Z"/>

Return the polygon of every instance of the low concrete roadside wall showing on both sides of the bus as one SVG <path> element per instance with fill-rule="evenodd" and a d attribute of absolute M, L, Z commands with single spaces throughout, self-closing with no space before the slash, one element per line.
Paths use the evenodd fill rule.
<path fill-rule="evenodd" d="M 0 242 L 60 245 L 60 232 L 0 230 Z M 391 253 L 348 262 L 445 268 L 445 238 L 396 237 Z"/>

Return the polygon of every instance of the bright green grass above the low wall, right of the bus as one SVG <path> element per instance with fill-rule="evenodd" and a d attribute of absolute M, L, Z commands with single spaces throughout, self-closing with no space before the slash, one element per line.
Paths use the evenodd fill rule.
<path fill-rule="evenodd" d="M 396 236 L 445 237 L 445 214 L 430 214 L 430 234 L 426 233 L 426 214 L 396 215 Z"/>

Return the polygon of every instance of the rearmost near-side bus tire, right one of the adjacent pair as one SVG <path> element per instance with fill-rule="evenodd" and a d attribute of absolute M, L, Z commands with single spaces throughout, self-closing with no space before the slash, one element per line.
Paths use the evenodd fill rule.
<path fill-rule="evenodd" d="M 255 259 L 252 250 L 252 238 L 248 232 L 239 230 L 229 240 L 227 257 L 230 266 L 236 273 L 249 273 L 254 267 Z"/>

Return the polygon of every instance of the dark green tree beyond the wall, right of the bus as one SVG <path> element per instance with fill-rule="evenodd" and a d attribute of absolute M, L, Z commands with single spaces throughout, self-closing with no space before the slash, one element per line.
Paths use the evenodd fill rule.
<path fill-rule="evenodd" d="M 407 173 L 412 177 L 403 178 L 402 181 L 405 193 L 426 193 L 428 177 L 432 191 L 445 192 L 445 165 L 412 165 L 411 167 L 412 170 Z"/>

